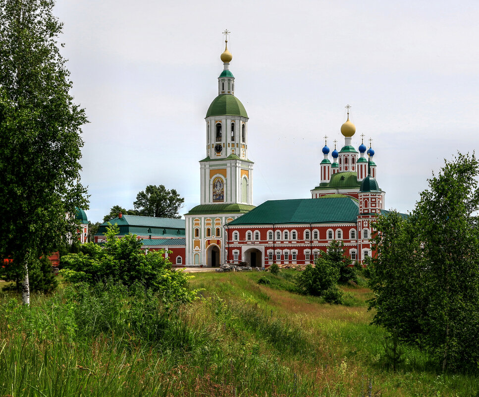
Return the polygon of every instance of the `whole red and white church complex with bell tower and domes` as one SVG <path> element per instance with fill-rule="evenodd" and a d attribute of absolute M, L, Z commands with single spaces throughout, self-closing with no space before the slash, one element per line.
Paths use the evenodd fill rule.
<path fill-rule="evenodd" d="M 118 223 L 120 234 L 137 231 L 145 252 L 165 249 L 168 256 L 172 250 L 171 262 L 183 266 L 308 264 L 333 239 L 342 241 L 346 254 L 362 263 L 373 255 L 373 220 L 387 213 L 384 191 L 376 181 L 371 140 L 369 149 L 364 135 L 358 150 L 352 145 L 356 127 L 349 120 L 348 105 L 347 120 L 340 127 L 344 145 L 338 152 L 334 140 L 330 158 L 325 140 L 320 182 L 311 189 L 311 198 L 269 200 L 255 207 L 254 163 L 248 158 L 249 118 L 234 95 L 233 56 L 228 50 L 229 32 L 225 33 L 218 95 L 205 117 L 200 205 L 189 210 L 184 221 L 119 214 L 110 222 Z M 106 225 L 100 227 L 95 241 L 103 241 Z"/>

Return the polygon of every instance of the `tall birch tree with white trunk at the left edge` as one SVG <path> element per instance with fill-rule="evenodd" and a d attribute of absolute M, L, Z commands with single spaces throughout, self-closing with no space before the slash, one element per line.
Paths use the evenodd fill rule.
<path fill-rule="evenodd" d="M 0 255 L 22 269 L 29 303 L 28 263 L 56 251 L 88 208 L 79 183 L 83 109 L 58 49 L 61 23 L 53 0 L 0 0 Z"/>

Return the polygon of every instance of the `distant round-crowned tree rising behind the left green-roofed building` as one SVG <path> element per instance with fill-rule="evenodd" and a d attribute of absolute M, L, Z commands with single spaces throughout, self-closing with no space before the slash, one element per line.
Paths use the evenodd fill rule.
<path fill-rule="evenodd" d="M 168 190 L 163 185 L 148 185 L 136 196 L 133 203 L 138 215 L 145 217 L 181 218 L 178 214 L 185 199 L 175 189 Z"/>

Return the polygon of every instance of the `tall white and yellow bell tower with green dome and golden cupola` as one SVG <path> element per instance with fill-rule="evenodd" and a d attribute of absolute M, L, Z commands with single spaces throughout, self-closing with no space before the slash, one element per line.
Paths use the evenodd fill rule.
<path fill-rule="evenodd" d="M 248 159 L 248 114 L 235 97 L 229 66 L 229 31 L 220 56 L 218 96 L 206 113 L 206 158 L 200 161 L 200 205 L 186 219 L 186 263 L 219 266 L 227 258 L 223 242 L 227 224 L 254 208 L 253 162 Z"/>

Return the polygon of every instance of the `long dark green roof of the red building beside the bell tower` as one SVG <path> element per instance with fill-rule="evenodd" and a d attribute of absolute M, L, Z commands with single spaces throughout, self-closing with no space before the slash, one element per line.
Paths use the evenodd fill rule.
<path fill-rule="evenodd" d="M 358 204 L 351 197 L 269 200 L 228 225 L 356 222 Z"/>

